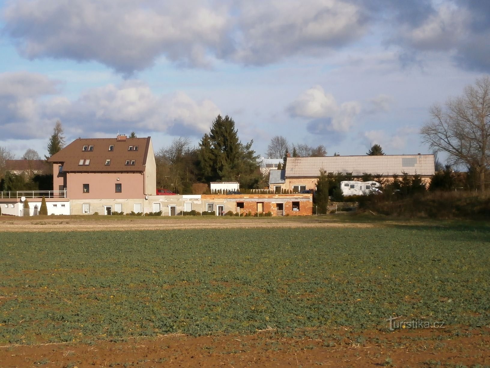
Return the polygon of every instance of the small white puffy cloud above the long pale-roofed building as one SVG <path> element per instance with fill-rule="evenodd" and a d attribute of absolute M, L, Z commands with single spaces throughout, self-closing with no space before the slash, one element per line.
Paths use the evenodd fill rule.
<path fill-rule="evenodd" d="M 310 131 L 321 134 L 348 131 L 361 111 L 361 105 L 356 101 L 338 105 L 332 94 L 325 93 L 321 86 L 316 85 L 299 95 L 287 109 L 291 116 L 316 119 L 310 125 L 310 128 L 315 128 Z"/>

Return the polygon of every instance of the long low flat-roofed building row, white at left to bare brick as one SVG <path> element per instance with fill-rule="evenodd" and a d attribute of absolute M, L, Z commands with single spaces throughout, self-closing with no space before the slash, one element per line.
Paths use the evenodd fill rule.
<path fill-rule="evenodd" d="M 13 216 L 39 214 L 41 198 L 27 198 L 28 214 L 24 209 L 25 197 L 0 198 L 1 213 Z M 311 215 L 312 194 L 203 194 L 203 195 L 147 195 L 144 198 L 69 199 L 46 198 L 49 215 L 100 214 L 113 212 L 146 214 L 162 212 L 162 216 L 178 216 L 183 212 L 214 212 L 222 216 L 228 211 L 240 215 L 266 214 L 271 216 Z"/>

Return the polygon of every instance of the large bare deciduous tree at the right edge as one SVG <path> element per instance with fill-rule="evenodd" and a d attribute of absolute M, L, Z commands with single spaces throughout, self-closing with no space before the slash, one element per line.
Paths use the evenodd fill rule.
<path fill-rule="evenodd" d="M 485 171 L 490 165 L 490 77 L 468 85 L 462 96 L 434 105 L 432 119 L 422 127 L 423 141 L 438 152 L 447 152 L 448 163 L 464 164 L 479 175 L 485 189 Z"/>

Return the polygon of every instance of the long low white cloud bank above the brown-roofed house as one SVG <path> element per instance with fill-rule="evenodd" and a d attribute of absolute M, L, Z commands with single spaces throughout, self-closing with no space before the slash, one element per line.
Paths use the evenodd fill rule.
<path fill-rule="evenodd" d="M 199 136 L 209 130 L 221 112 L 212 101 L 195 101 L 182 91 L 154 94 L 140 80 L 90 89 L 74 101 L 63 96 L 49 98 L 56 82 L 41 77 L 25 73 L 10 78 L 0 74 L 0 86 L 9 86 L 12 91 L 8 94 L 4 90 L 0 96 L 3 139 L 48 136 L 58 119 L 69 136 L 94 136 L 97 132 L 119 130 Z"/>

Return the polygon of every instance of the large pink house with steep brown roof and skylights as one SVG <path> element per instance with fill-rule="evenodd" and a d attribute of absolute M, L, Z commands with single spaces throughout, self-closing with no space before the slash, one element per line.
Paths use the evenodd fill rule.
<path fill-rule="evenodd" d="M 72 214 L 141 212 L 145 197 L 156 194 L 151 137 L 79 138 L 48 161 L 53 189 L 66 190 Z"/>

